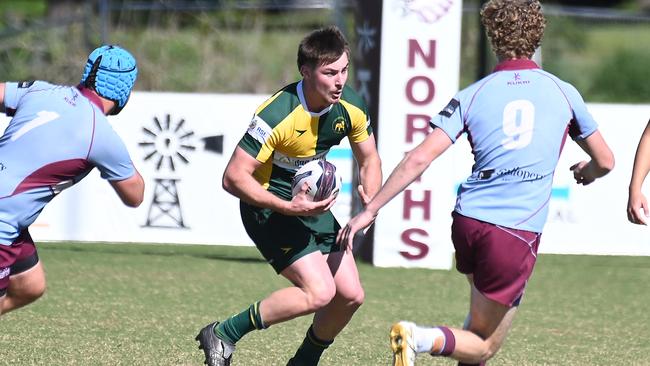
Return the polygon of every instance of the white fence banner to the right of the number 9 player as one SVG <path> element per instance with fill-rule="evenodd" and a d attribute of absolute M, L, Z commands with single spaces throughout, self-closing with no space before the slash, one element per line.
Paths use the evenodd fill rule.
<path fill-rule="evenodd" d="M 650 255 L 650 228 L 629 223 L 626 213 L 634 155 L 650 118 L 650 105 L 590 104 L 589 111 L 614 152 L 616 166 L 591 185 L 576 185 L 569 167 L 589 157 L 567 140 L 555 172 L 549 218 L 539 251 Z M 646 180 L 647 197 L 649 188 Z"/>

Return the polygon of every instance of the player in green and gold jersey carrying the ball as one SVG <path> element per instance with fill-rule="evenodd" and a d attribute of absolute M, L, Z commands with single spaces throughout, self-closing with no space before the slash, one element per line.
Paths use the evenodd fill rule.
<path fill-rule="evenodd" d="M 354 257 L 336 244 L 334 198 L 312 202 L 291 195 L 295 171 L 324 159 L 347 137 L 359 166 L 359 195 L 367 203 L 381 186 L 381 162 L 365 103 L 348 77 L 350 48 L 336 27 L 316 30 L 298 48 L 302 80 L 264 102 L 235 149 L 223 187 L 241 200 L 247 233 L 268 263 L 292 286 L 277 290 L 196 339 L 209 366 L 229 365 L 246 333 L 314 313 L 289 365 L 316 365 L 364 300 Z M 306 187 L 305 187 L 306 188 Z"/>

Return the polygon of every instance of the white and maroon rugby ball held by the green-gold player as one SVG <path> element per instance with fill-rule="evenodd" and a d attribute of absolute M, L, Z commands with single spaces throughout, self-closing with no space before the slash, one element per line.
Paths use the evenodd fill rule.
<path fill-rule="evenodd" d="M 341 190 L 341 177 L 336 174 L 336 166 L 327 160 L 312 160 L 296 171 L 291 181 L 291 195 L 300 193 L 307 183 L 307 195 L 313 201 L 322 201 L 336 196 Z"/>

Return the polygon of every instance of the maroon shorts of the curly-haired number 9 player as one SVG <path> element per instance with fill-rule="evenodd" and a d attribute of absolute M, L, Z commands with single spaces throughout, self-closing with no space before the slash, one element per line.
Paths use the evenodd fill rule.
<path fill-rule="evenodd" d="M 533 273 L 542 236 L 472 219 L 456 212 L 451 240 L 456 269 L 472 274 L 474 286 L 488 299 L 517 306 Z"/>

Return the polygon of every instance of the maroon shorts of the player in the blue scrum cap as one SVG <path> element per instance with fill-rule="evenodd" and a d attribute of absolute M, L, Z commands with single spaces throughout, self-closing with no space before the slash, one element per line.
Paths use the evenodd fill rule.
<path fill-rule="evenodd" d="M 36 246 L 27 229 L 11 245 L 0 245 L 0 296 L 7 292 L 9 276 L 24 272 L 37 263 Z"/>

